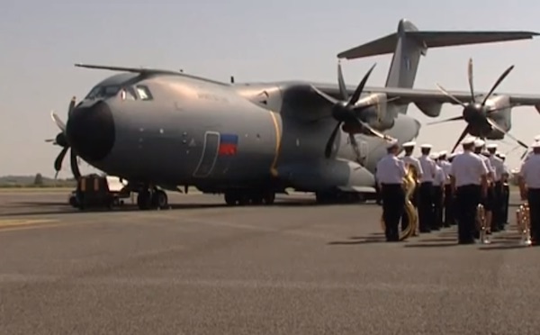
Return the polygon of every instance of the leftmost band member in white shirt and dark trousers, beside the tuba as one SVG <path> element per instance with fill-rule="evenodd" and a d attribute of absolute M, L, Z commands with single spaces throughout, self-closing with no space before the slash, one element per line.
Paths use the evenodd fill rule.
<path fill-rule="evenodd" d="M 398 227 L 405 207 L 405 190 L 403 177 L 405 177 L 405 164 L 397 154 L 400 146 L 397 140 L 390 141 L 386 149 L 388 154 L 377 163 L 376 180 L 379 183 L 383 198 L 383 220 L 385 223 L 386 240 L 399 241 Z"/>

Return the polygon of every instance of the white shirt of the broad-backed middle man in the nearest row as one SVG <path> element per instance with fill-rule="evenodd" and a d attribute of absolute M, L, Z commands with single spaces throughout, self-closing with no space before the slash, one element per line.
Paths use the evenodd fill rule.
<path fill-rule="evenodd" d="M 488 172 L 482 158 L 471 151 L 456 155 L 450 168 L 450 175 L 455 177 L 456 187 L 481 185 L 482 176 Z"/>

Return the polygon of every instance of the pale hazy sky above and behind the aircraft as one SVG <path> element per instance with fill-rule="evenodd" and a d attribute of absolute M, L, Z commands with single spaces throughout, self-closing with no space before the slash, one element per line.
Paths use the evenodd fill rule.
<path fill-rule="evenodd" d="M 228 81 L 305 79 L 337 83 L 336 54 L 395 32 L 408 18 L 424 30 L 540 31 L 540 3 L 520 1 L 379 0 L 2 0 L 0 5 L 0 175 L 54 174 L 59 148 L 43 140 L 58 129 L 50 110 L 66 118 L 72 95 L 82 98 L 112 73 L 74 68 L 76 62 L 155 68 Z M 335 5 L 333 5 L 335 4 Z M 369 4 L 369 5 L 364 5 Z M 428 50 L 415 87 L 437 82 L 466 90 L 467 59 L 473 57 L 475 87 L 487 91 L 500 73 L 516 68 L 498 92 L 540 95 L 540 39 Z M 369 86 L 383 86 L 391 56 L 343 64 L 356 85 L 376 61 Z M 410 105 L 419 121 L 429 119 Z M 446 105 L 443 114 L 461 109 Z M 526 142 L 540 133 L 534 107 L 513 111 L 512 132 Z M 449 149 L 464 122 L 424 126 L 419 142 Z M 503 151 L 515 145 L 501 143 Z M 450 148 L 451 149 L 451 148 Z M 516 165 L 518 151 L 509 161 Z M 66 159 L 60 177 L 69 177 Z M 85 170 L 83 168 L 83 170 Z"/>

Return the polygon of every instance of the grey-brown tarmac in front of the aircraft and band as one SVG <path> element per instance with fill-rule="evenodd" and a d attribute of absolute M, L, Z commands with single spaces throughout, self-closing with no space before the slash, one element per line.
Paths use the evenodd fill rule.
<path fill-rule="evenodd" d="M 375 204 L 169 199 L 81 213 L 1 192 L 0 333 L 538 334 L 540 248 L 513 225 L 490 245 L 387 243 Z"/>

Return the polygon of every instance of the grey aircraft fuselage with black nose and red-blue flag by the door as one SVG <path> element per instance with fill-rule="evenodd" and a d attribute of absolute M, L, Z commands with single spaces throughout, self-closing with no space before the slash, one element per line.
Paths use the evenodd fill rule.
<path fill-rule="evenodd" d="M 104 79 L 67 121 L 76 153 L 109 175 L 205 192 L 269 183 L 302 191 L 374 186 L 385 141 L 356 135 L 362 167 L 340 131 L 337 151 L 325 158 L 336 121 L 302 122 L 294 113 L 305 110 L 281 113 L 282 87 L 299 83 L 252 87 L 171 75 L 137 78 L 122 73 Z M 261 95 L 266 104 L 257 101 Z M 416 138 L 419 128 L 399 114 L 386 133 L 402 143 Z M 220 140 L 227 142 L 222 154 Z"/>

